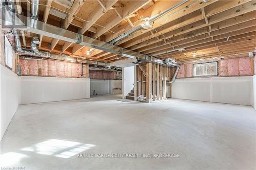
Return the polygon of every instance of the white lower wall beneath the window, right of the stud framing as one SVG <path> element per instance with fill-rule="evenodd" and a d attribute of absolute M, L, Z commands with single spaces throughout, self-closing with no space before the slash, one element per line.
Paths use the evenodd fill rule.
<path fill-rule="evenodd" d="M 253 105 L 251 76 L 176 79 L 172 90 L 177 99 Z"/>

